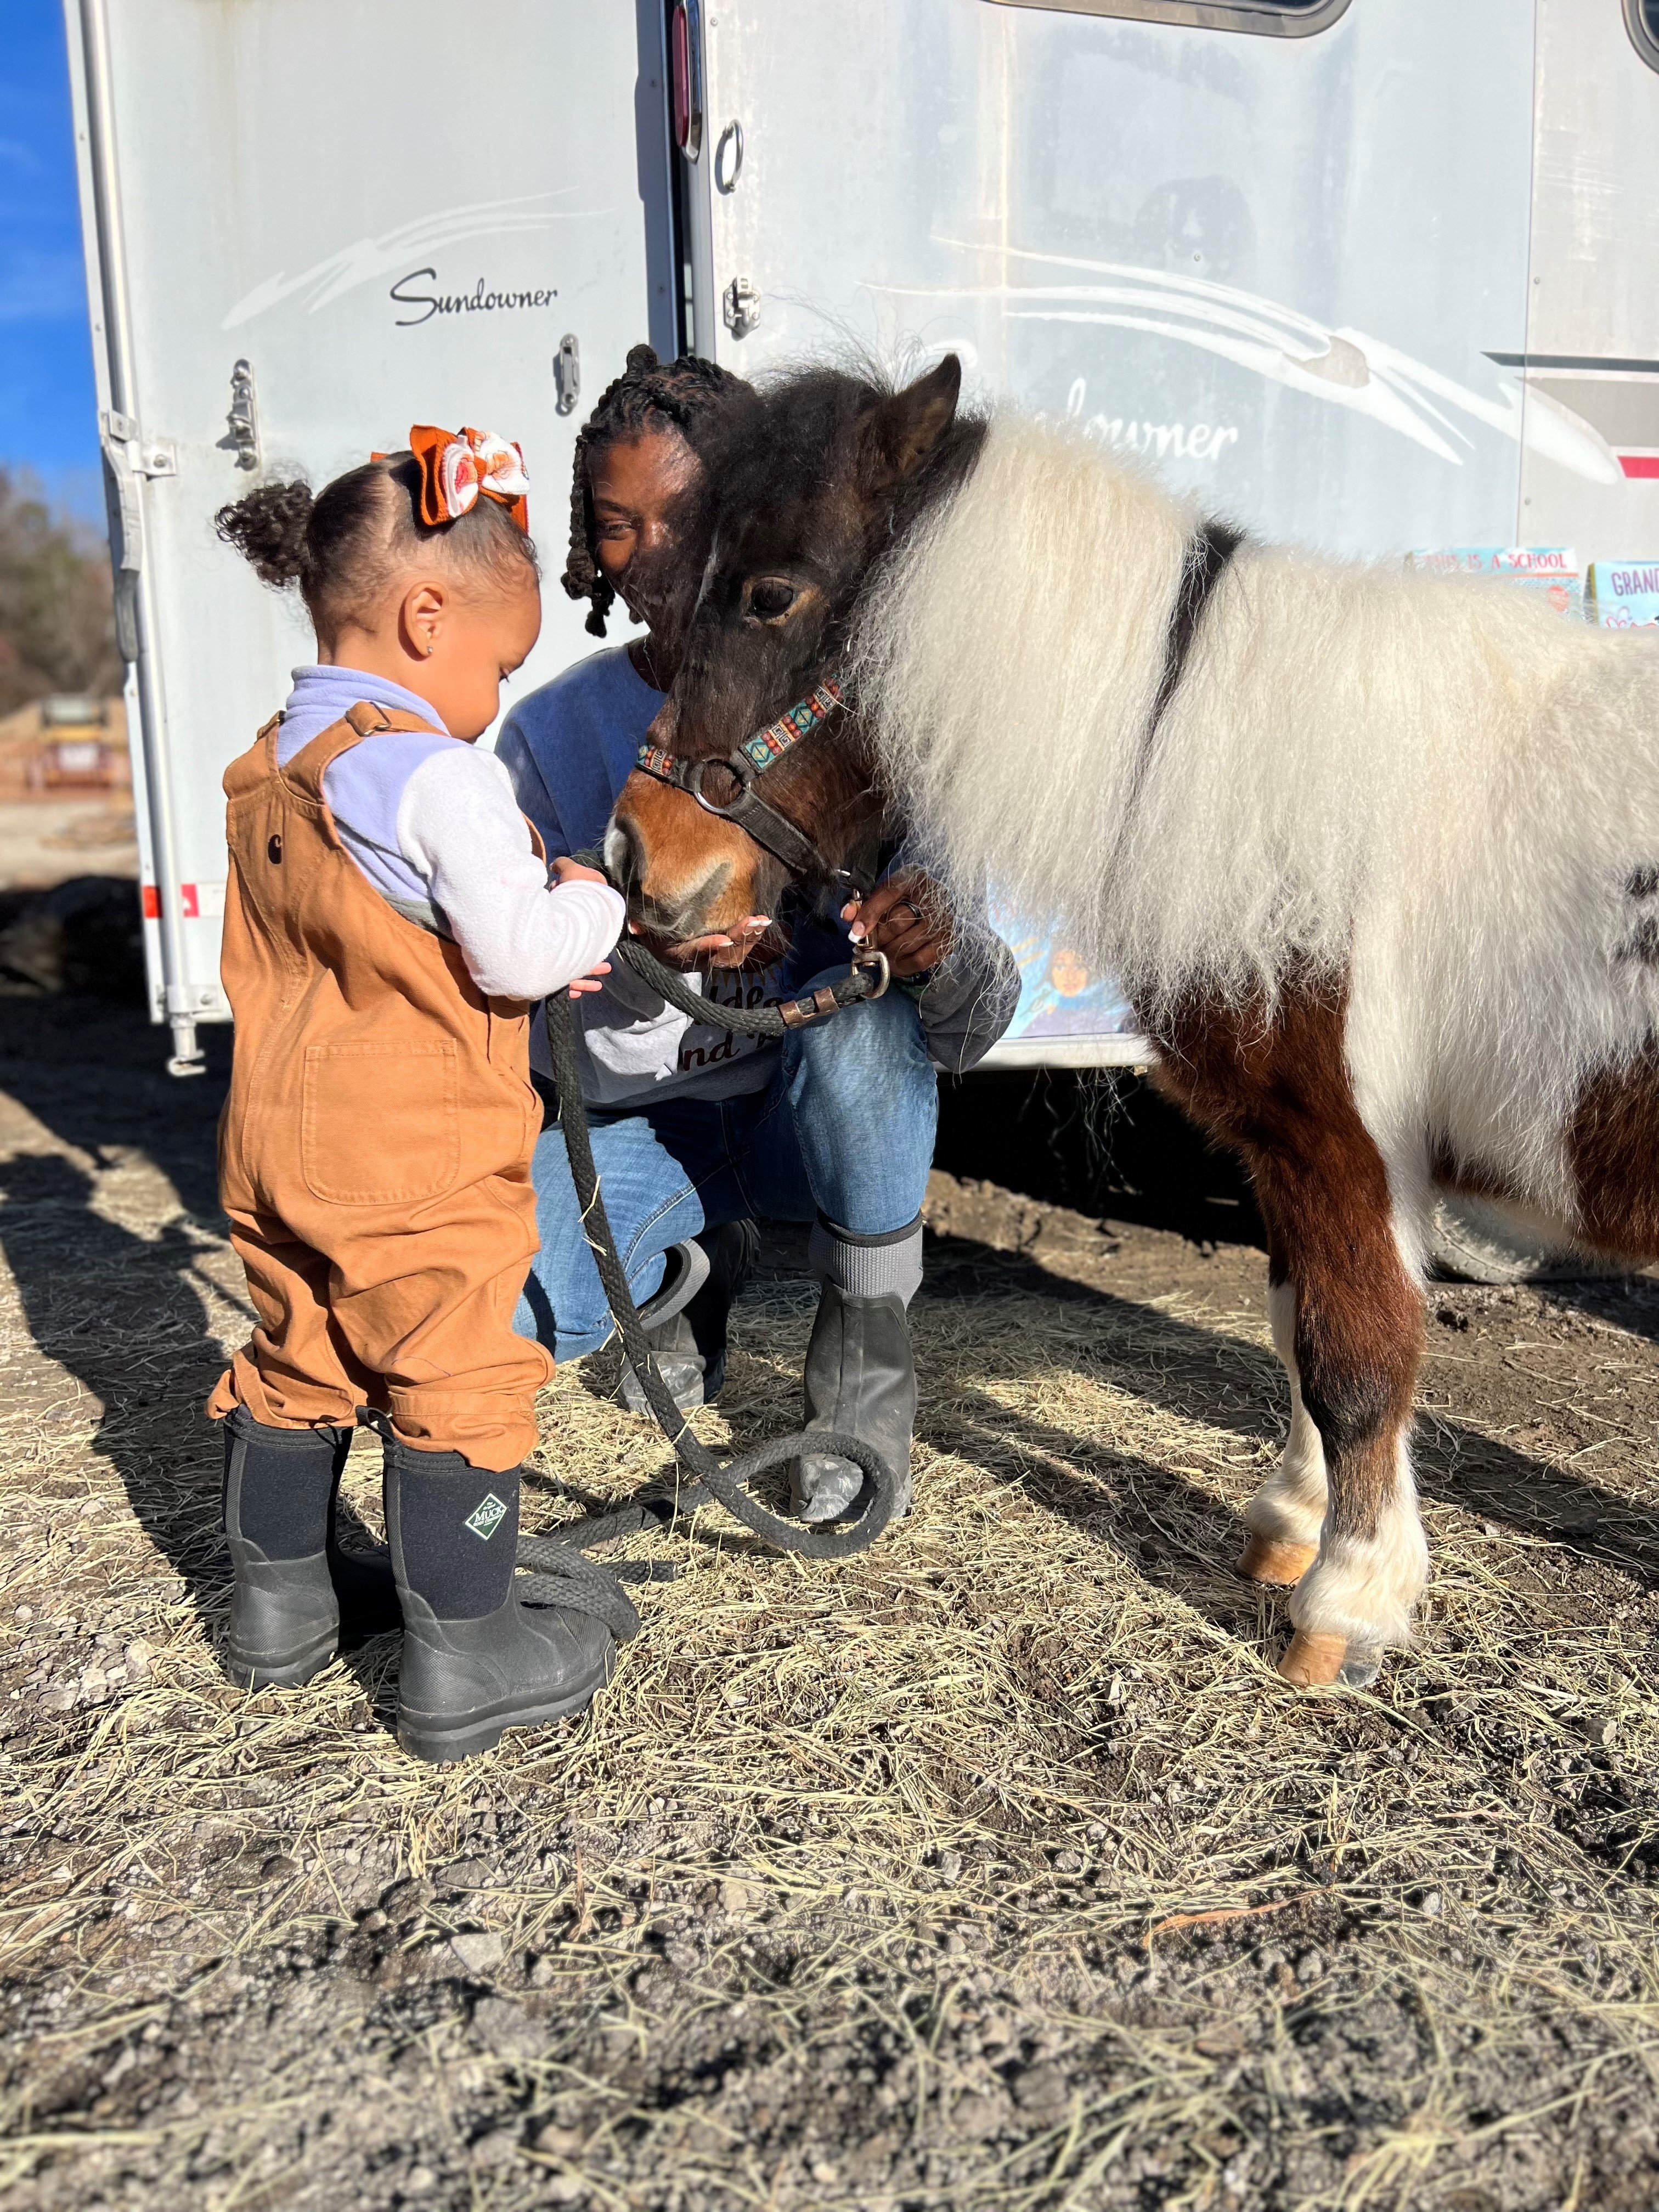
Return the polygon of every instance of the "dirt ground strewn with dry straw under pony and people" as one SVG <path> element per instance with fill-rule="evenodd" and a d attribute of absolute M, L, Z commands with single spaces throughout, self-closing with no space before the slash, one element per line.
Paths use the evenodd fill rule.
<path fill-rule="evenodd" d="M 679 1577 L 593 1714 L 427 1770 L 389 1639 L 215 1657 L 221 1073 L 75 1000 L 0 1048 L 18 2212 L 1659 2201 L 1659 1285 L 1436 1294 L 1420 1646 L 1296 1697 L 1232 1575 L 1261 1252 L 938 1175 L 914 1517 L 639 1540 Z M 768 1254 L 710 1438 L 796 1418 Z M 593 1365 L 533 1526 L 666 1464 Z"/>

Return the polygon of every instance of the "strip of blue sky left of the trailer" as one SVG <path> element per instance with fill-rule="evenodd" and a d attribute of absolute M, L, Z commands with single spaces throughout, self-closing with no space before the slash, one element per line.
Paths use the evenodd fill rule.
<path fill-rule="evenodd" d="M 0 46 L 0 467 L 102 518 L 62 0 L 7 0 Z"/>

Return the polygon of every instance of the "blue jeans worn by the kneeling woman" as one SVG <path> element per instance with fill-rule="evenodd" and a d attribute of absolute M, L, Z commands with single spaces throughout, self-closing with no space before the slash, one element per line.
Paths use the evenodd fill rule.
<path fill-rule="evenodd" d="M 843 973 L 814 975 L 805 991 Z M 599 1194 L 635 1301 L 661 1283 L 670 1245 L 745 1214 L 823 1212 L 856 1237 L 907 1228 L 922 1210 L 936 1128 L 938 1077 L 902 991 L 792 1031 L 772 1082 L 748 1097 L 595 1113 Z M 513 1327 L 575 1360 L 611 1338 L 611 1307 L 557 1128 L 542 1130 L 531 1175 L 542 1250 Z"/>

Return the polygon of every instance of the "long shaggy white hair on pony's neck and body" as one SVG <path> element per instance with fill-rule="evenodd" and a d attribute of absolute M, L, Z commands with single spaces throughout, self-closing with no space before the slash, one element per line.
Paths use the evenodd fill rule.
<path fill-rule="evenodd" d="M 1369 1022 L 1374 1060 L 1411 1057 L 1411 1113 L 1464 1119 L 1422 1093 L 1455 1033 L 1491 1066 L 1475 1121 L 1537 1152 L 1537 1048 L 1571 1084 L 1659 1018 L 1617 951 L 1659 863 L 1652 644 L 1511 584 L 1245 544 L 1148 748 L 1194 520 L 1079 431 L 995 416 L 856 641 L 896 794 L 958 889 L 1004 885 L 1144 1011 L 1272 1004 L 1321 962 L 1349 1051 Z M 1367 1084 L 1378 1110 L 1400 1088 Z"/>

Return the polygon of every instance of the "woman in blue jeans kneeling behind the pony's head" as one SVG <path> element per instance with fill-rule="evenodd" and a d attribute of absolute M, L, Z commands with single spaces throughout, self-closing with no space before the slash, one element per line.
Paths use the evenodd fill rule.
<path fill-rule="evenodd" d="M 595 637 L 617 597 L 646 635 L 568 668 L 507 719 L 498 757 L 551 854 L 599 845 L 675 679 L 706 555 L 699 451 L 745 398 L 712 361 L 659 365 L 639 345 L 577 440 L 564 588 L 591 602 Z M 858 938 L 887 953 L 896 989 L 772 1044 L 692 1022 L 617 967 L 582 1000 L 593 1155 L 633 1294 L 684 1407 L 719 1394 L 726 1316 L 757 1248 L 752 1217 L 814 1223 L 807 1429 L 874 1444 L 907 1498 L 907 1307 L 922 1276 L 936 1071 L 982 1060 L 1013 1020 L 1020 975 L 989 927 L 951 927 L 918 869 L 891 869 L 841 916 L 792 911 L 779 922 L 774 931 L 768 916 L 750 916 L 730 938 L 679 947 L 692 987 L 723 1004 L 799 998 L 845 973 Z M 759 964 L 763 940 L 785 936 L 787 951 Z M 546 1077 L 540 1026 L 531 1053 Z M 555 1358 L 580 1358 L 606 1343 L 611 1316 L 555 1126 L 533 1172 L 542 1250 L 518 1327 Z M 644 1409 L 628 1376 L 624 1396 Z M 852 1462 L 807 1453 L 792 1473 L 794 1509 L 834 1520 L 858 1482 Z"/>

